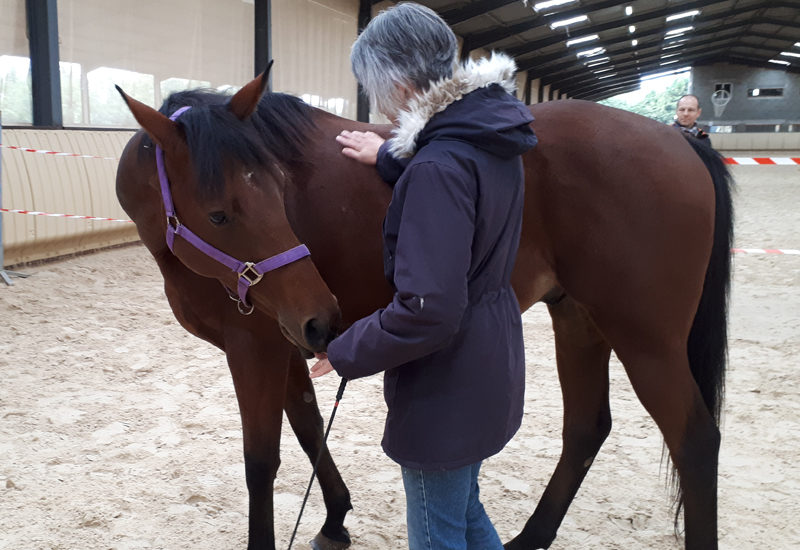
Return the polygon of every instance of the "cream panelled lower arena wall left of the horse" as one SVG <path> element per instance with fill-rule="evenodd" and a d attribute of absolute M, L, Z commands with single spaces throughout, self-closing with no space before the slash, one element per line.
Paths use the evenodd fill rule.
<path fill-rule="evenodd" d="M 132 131 L 3 130 L 4 144 L 93 157 L 56 156 L 3 147 L 3 207 L 127 219 L 117 201 L 117 160 Z M 110 159 L 110 160 L 109 160 Z M 138 240 L 133 223 L 4 213 L 6 266 Z"/>

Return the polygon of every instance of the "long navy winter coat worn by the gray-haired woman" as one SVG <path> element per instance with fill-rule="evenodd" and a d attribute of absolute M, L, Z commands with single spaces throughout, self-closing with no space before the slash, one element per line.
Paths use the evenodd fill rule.
<path fill-rule="evenodd" d="M 524 350 L 510 278 L 522 224 L 519 155 L 536 144 L 532 120 L 491 84 L 427 121 L 384 220 L 394 299 L 328 347 L 347 379 L 385 371 L 383 448 L 402 466 L 473 464 L 520 426 Z M 381 174 L 396 162 L 384 149 Z"/>

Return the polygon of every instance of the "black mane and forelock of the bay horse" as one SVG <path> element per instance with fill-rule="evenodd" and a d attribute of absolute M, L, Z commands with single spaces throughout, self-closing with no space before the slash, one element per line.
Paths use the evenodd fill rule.
<path fill-rule="evenodd" d="M 159 109 L 169 116 L 192 107 L 177 122 L 186 135 L 199 190 L 207 196 L 222 193 L 226 159 L 248 169 L 266 169 L 273 176 L 279 166 L 302 162 L 305 136 L 314 126 L 311 108 L 297 97 L 264 94 L 245 122 L 228 109 L 230 98 L 215 90 L 186 90 L 171 94 Z"/>

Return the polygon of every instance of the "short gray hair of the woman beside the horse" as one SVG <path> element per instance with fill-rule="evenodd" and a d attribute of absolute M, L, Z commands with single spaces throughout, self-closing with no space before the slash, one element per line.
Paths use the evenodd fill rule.
<path fill-rule="evenodd" d="M 404 2 L 378 14 L 353 44 L 350 62 L 370 103 L 382 113 L 403 106 L 398 86 L 428 89 L 450 78 L 456 36 L 436 12 Z"/>

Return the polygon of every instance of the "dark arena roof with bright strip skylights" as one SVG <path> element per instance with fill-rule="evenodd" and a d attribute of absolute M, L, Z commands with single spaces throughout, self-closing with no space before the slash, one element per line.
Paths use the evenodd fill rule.
<path fill-rule="evenodd" d="M 600 100 L 642 77 L 721 62 L 800 73 L 800 57 L 782 55 L 800 55 L 800 0 L 417 1 L 467 49 L 504 51 L 569 97 Z"/>

